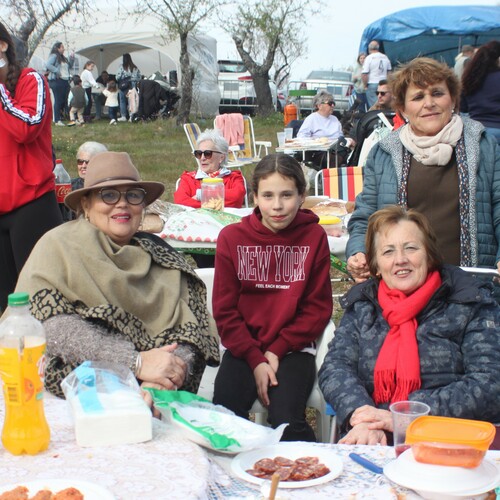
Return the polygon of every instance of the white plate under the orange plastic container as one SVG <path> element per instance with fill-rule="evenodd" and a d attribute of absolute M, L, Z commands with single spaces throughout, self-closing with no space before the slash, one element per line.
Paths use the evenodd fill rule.
<path fill-rule="evenodd" d="M 419 491 L 424 498 L 432 498 L 430 495 L 470 498 L 495 489 L 500 483 L 500 470 L 488 459 L 474 469 L 445 467 L 417 462 L 411 449 L 389 462 L 384 474 L 400 486 Z"/>

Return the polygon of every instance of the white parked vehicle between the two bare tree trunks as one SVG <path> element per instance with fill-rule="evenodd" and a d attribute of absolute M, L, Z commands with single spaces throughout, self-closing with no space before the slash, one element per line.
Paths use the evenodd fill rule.
<path fill-rule="evenodd" d="M 254 114 L 257 109 L 257 98 L 253 86 L 252 75 L 242 61 L 220 60 L 219 89 L 220 112 L 240 112 Z M 277 108 L 277 89 L 273 81 L 269 81 L 274 109 Z"/>

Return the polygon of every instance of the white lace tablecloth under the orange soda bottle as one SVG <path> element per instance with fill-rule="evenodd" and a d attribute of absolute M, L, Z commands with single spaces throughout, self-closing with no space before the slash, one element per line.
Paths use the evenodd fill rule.
<path fill-rule="evenodd" d="M 0 397 L 0 424 L 4 403 Z M 154 419 L 153 440 L 132 445 L 80 448 L 67 403 L 46 396 L 51 430 L 47 451 L 14 456 L 0 445 L 0 486 L 35 479 L 88 481 L 108 489 L 116 499 L 206 499 L 210 465 L 196 444 L 178 437 Z"/>

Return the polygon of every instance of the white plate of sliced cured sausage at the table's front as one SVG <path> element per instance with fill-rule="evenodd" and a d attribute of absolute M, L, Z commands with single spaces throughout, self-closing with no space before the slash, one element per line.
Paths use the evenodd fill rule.
<path fill-rule="evenodd" d="M 280 488 L 307 488 L 332 481 L 342 472 L 342 460 L 331 448 L 307 443 L 278 443 L 240 453 L 231 470 L 240 479 L 262 485 L 273 474 Z"/>

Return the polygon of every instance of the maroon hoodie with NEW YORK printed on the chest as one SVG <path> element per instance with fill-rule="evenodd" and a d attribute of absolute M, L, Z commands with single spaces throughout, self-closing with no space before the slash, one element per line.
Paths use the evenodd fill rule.
<path fill-rule="evenodd" d="M 258 208 L 217 238 L 213 311 L 222 344 L 252 370 L 311 345 L 332 314 L 330 249 L 318 217 L 299 210 L 274 233 Z"/>

